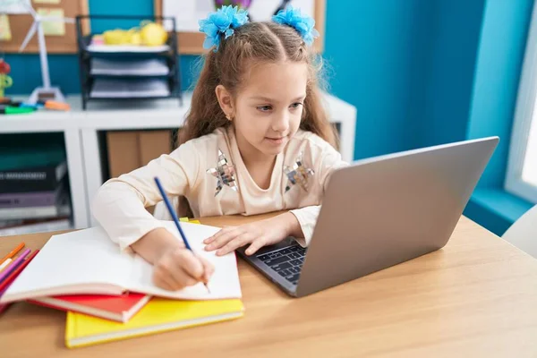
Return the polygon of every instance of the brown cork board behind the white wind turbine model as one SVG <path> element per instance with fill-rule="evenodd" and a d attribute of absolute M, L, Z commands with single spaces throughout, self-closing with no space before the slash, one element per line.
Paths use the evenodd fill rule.
<path fill-rule="evenodd" d="M 58 4 L 55 4 L 58 3 Z M 38 9 L 62 9 L 64 17 L 74 19 L 79 14 L 88 14 L 88 0 L 56 0 L 55 2 L 35 1 L 31 2 L 33 8 Z M 33 23 L 33 18 L 30 14 L 9 14 L 9 24 L 11 28 L 11 40 L 0 41 L 0 51 L 5 53 L 18 53 L 22 41 L 30 30 Z M 86 23 L 84 23 L 86 22 Z M 89 31 L 88 21 L 82 22 L 85 26 L 84 31 Z M 47 54 L 76 54 L 78 52 L 76 41 L 76 28 L 74 23 L 64 23 L 64 36 L 45 36 L 47 45 Z M 30 40 L 28 46 L 22 51 L 22 54 L 37 54 L 38 37 L 37 33 Z"/>

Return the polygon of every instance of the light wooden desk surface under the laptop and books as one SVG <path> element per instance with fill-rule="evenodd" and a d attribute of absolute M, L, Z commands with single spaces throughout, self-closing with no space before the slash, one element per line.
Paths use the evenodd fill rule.
<path fill-rule="evenodd" d="M 2 238 L 0 256 L 50 235 Z M 0 356 L 537 356 L 537 260 L 465 217 L 444 249 L 301 299 L 239 269 L 242 319 L 70 350 L 64 312 L 16 303 L 0 316 Z"/>

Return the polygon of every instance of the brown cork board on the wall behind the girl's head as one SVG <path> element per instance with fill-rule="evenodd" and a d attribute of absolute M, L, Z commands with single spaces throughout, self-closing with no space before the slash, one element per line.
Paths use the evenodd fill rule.
<path fill-rule="evenodd" d="M 163 0 L 154 0 L 155 15 L 166 16 L 163 14 Z M 183 0 L 193 1 L 193 0 Z M 262 0 L 257 0 L 262 1 Z M 326 23 L 326 0 L 314 0 L 314 19 L 315 29 L 320 33 L 319 38 L 315 39 L 313 48 L 316 52 L 321 53 L 324 49 L 325 23 Z M 180 54 L 200 55 L 207 52 L 203 48 L 204 34 L 200 32 L 177 32 L 177 47 Z"/>

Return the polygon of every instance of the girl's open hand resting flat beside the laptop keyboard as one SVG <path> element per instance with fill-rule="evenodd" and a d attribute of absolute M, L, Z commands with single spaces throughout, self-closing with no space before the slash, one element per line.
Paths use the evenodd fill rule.
<path fill-rule="evenodd" d="M 217 256 L 226 255 L 250 243 L 246 254 L 251 255 L 261 247 L 279 243 L 297 232 L 302 233 L 298 220 L 292 213 L 286 213 L 243 226 L 227 226 L 203 243 L 207 244 L 206 251 L 217 250 Z"/>

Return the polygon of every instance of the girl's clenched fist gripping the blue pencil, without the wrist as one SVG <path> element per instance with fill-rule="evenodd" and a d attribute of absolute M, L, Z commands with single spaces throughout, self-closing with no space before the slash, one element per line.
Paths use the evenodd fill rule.
<path fill-rule="evenodd" d="M 207 283 L 214 272 L 213 265 L 183 247 L 164 251 L 155 262 L 153 282 L 166 290 L 180 290 L 199 282 Z"/>

